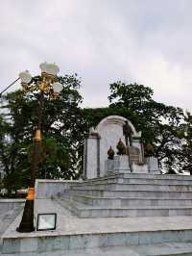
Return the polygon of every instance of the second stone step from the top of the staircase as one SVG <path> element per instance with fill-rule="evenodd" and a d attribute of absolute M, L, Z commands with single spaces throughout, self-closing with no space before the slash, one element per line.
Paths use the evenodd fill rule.
<path fill-rule="evenodd" d="M 165 191 L 165 192 L 192 192 L 192 186 L 190 185 L 158 185 L 158 184 L 129 184 L 129 183 L 110 183 L 110 184 L 81 184 L 76 186 L 71 186 L 71 190 L 107 190 L 107 191 Z"/>

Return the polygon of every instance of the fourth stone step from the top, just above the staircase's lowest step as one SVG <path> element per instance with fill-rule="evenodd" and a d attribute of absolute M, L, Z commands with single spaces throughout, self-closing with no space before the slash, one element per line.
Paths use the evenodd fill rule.
<path fill-rule="evenodd" d="M 84 204 L 92 205 L 92 206 L 112 206 L 112 207 L 137 207 L 137 206 L 192 206 L 192 199 L 170 199 L 170 198 L 146 198 L 146 197 L 132 197 L 132 198 L 124 198 L 124 197 L 98 197 L 98 196 L 88 196 L 88 195 L 80 195 L 80 194 L 70 194 L 65 198 L 70 198 L 70 200 L 81 202 Z"/>

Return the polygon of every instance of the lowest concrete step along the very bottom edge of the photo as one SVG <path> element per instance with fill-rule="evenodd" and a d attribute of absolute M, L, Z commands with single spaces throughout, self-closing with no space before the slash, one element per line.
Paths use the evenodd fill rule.
<path fill-rule="evenodd" d="M 57 248 L 54 244 L 54 248 Z M 54 249 L 53 248 L 53 249 Z M 0 256 L 191 256 L 192 243 L 154 243 L 127 246 L 105 246 L 72 250 L 44 250 L 42 252 L 21 252 Z"/>

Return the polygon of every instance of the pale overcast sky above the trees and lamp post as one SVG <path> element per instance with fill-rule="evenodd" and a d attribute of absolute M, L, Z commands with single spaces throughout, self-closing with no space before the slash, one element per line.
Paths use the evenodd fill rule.
<path fill-rule="evenodd" d="M 82 77 L 85 107 L 122 80 L 192 111 L 191 13 L 191 0 L 0 0 L 0 88 L 47 61 Z"/>

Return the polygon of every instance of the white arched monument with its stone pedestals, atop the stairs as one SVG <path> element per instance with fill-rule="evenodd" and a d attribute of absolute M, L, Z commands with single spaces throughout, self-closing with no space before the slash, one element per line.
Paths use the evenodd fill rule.
<path fill-rule="evenodd" d="M 116 155 L 119 140 L 126 144 L 123 126 L 127 123 L 132 131 L 132 144 L 128 141 L 128 154 Z M 84 141 L 84 177 L 87 179 L 103 177 L 112 173 L 159 173 L 157 159 L 145 158 L 140 142 L 141 132 L 137 132 L 132 122 L 119 115 L 109 115 L 102 119 Z M 108 159 L 108 149 L 115 152 L 113 159 Z"/>

